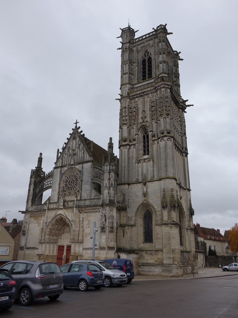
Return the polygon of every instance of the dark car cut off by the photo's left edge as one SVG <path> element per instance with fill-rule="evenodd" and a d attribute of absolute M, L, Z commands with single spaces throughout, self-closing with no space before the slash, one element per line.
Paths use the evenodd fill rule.
<path fill-rule="evenodd" d="M 0 268 L 0 310 L 9 310 L 16 298 L 16 281 L 7 269 Z"/>

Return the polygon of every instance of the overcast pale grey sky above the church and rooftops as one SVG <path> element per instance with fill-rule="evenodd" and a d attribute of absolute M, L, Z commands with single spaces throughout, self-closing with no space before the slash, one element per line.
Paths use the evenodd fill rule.
<path fill-rule="evenodd" d="M 194 223 L 224 234 L 238 222 L 237 11 L 236 0 L 0 0 L 0 217 L 23 219 L 39 153 L 47 173 L 76 119 L 103 148 L 112 137 L 119 155 L 120 28 L 139 37 L 167 23 L 181 95 L 194 105 Z"/>

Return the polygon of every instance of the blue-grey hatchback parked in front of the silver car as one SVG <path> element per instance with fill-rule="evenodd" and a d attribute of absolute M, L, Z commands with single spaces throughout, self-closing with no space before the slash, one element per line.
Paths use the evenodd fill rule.
<path fill-rule="evenodd" d="M 60 266 L 64 287 L 78 287 L 85 292 L 90 286 L 100 289 L 104 283 L 103 272 L 93 264 L 69 263 Z"/>

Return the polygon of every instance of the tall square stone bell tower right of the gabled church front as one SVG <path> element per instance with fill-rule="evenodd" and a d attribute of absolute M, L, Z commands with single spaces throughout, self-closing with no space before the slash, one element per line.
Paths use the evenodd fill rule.
<path fill-rule="evenodd" d="M 141 274 L 195 273 L 180 52 L 166 24 L 138 38 L 121 31 L 117 250 L 137 253 Z"/>

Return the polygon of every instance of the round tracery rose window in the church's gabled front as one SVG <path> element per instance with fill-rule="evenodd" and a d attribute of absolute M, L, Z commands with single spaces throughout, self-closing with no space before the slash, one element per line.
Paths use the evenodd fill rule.
<path fill-rule="evenodd" d="M 62 193 L 64 194 L 74 194 L 80 191 L 80 178 L 81 174 L 75 170 L 71 169 L 62 180 Z"/>

